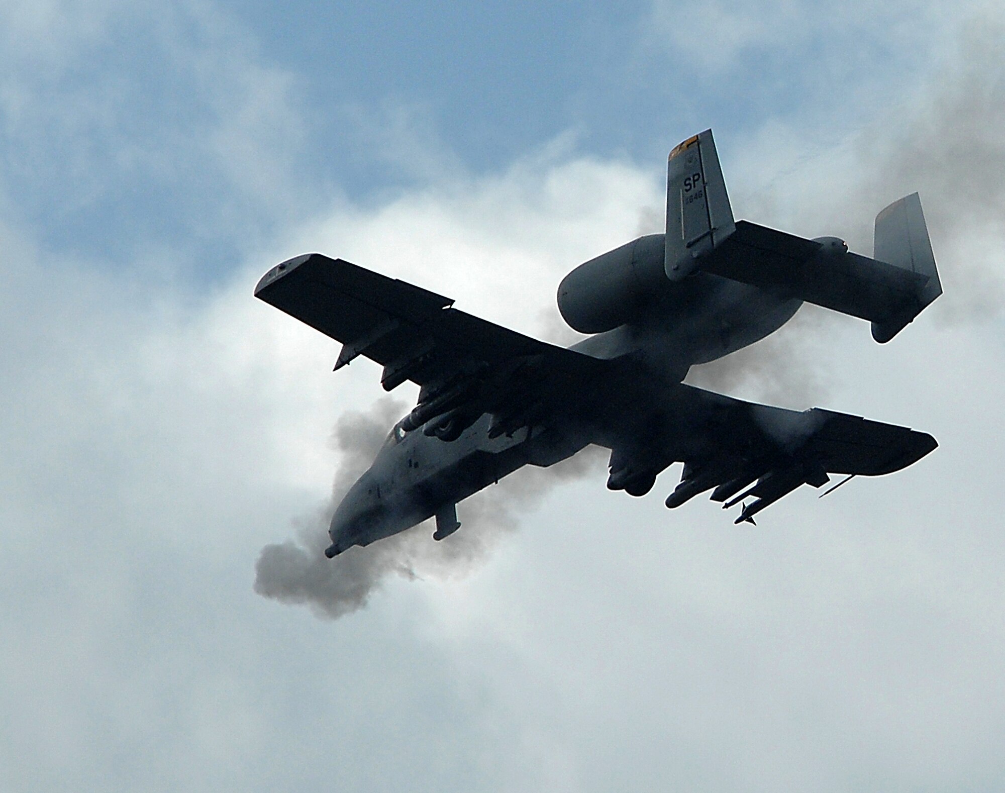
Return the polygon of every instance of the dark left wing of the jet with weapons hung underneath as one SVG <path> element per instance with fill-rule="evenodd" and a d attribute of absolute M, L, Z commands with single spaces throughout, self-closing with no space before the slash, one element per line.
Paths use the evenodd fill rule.
<path fill-rule="evenodd" d="M 450 308 L 449 298 L 320 253 L 270 269 L 255 296 L 342 342 L 337 370 L 362 355 L 384 367 L 385 390 L 406 380 L 421 386 L 406 429 L 438 418 L 444 439 L 486 412 L 495 433 L 538 423 L 604 366 Z"/>

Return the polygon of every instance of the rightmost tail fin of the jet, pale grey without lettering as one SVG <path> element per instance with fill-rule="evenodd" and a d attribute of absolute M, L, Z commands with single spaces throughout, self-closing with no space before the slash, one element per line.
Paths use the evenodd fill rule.
<path fill-rule="evenodd" d="M 926 306 L 942 294 L 936 257 L 932 252 L 918 193 L 894 201 L 876 215 L 872 257 L 928 278 L 918 287 L 917 302 L 910 311 L 881 323 L 872 323 L 872 338 L 882 343 L 896 336 Z"/>

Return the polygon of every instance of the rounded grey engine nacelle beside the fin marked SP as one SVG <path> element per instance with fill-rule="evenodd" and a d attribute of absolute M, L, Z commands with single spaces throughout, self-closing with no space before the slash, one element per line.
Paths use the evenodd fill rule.
<path fill-rule="evenodd" d="M 664 294 L 662 234 L 647 234 L 580 264 L 559 284 L 559 312 L 580 333 L 603 333 L 631 322 Z"/>

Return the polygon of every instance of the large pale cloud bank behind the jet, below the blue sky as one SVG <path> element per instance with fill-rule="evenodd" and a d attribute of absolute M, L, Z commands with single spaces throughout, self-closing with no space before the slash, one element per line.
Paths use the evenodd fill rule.
<path fill-rule="evenodd" d="M 995 95 L 999 71 L 964 73 Z M 975 107 L 972 84 L 950 72 L 918 118 Z M 963 132 L 988 136 L 993 172 L 1005 141 L 997 106 L 980 107 Z M 909 142 L 933 151 L 946 127 L 922 121 L 939 135 Z M 947 294 L 887 346 L 839 320 L 722 382 L 757 396 L 822 366 L 825 406 L 932 431 L 936 452 L 823 502 L 804 488 L 756 530 L 706 501 L 667 512 L 675 471 L 643 500 L 587 478 L 522 516 L 474 575 L 430 562 L 337 623 L 254 595 L 253 567 L 328 497 L 329 433 L 381 393 L 378 371 L 332 375 L 337 345 L 256 303 L 257 276 L 321 249 L 537 333 L 560 276 L 661 205 L 661 163 L 560 149 L 336 204 L 209 293 L 103 272 L 8 223 L 0 787 L 999 787 L 1005 350 L 994 312 L 937 319 L 964 256 L 995 282 L 1003 233 L 971 202 L 941 209 L 941 165 L 894 168 L 902 134 L 834 156 L 796 119 L 724 150 L 739 214 L 866 245 L 880 193 L 917 173 L 943 218 Z"/>

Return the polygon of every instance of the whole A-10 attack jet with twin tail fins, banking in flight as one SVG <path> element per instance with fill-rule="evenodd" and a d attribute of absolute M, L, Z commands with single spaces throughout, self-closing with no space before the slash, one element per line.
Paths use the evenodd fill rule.
<path fill-rule="evenodd" d="M 743 504 L 737 523 L 831 473 L 910 465 L 936 447 L 931 435 L 682 383 L 692 364 L 763 339 L 804 301 L 868 320 L 872 337 L 889 341 L 942 292 L 917 193 L 876 216 L 873 257 L 836 237 L 735 221 L 710 130 L 670 152 L 665 234 L 591 259 L 559 285 L 562 317 L 591 334 L 568 349 L 342 259 L 284 261 L 258 282 L 258 298 L 342 342 L 337 370 L 366 356 L 384 367 L 385 390 L 420 387 L 337 508 L 326 554 L 430 517 L 441 540 L 459 527 L 458 502 L 590 443 L 611 451 L 611 489 L 642 495 L 683 462 L 666 506 L 711 489 L 724 507 Z"/>

